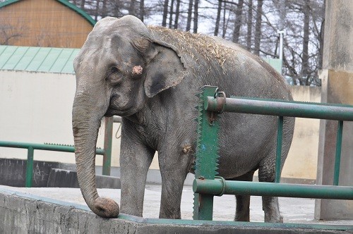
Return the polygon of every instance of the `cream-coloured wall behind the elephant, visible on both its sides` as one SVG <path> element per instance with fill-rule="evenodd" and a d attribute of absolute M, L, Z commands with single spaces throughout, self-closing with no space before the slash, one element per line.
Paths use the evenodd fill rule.
<path fill-rule="evenodd" d="M 76 81 L 71 74 L 29 73 L 0 70 L 0 140 L 73 144 L 71 108 Z M 320 101 L 320 88 L 292 87 L 295 100 Z M 119 123 L 114 123 L 112 166 L 119 166 Z M 103 147 L 101 128 L 97 146 Z M 297 118 L 294 142 L 282 176 L 316 178 L 318 121 Z M 25 159 L 24 149 L 0 147 L 1 158 Z M 75 163 L 72 153 L 35 151 L 35 160 Z M 102 156 L 97 156 L 102 165 Z M 150 168 L 157 169 L 157 156 Z"/>

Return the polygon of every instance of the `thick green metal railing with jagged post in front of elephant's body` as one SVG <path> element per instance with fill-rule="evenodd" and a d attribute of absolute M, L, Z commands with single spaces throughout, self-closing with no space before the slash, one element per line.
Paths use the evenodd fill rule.
<path fill-rule="evenodd" d="M 226 97 L 217 87 L 205 86 L 198 94 L 196 179 L 193 181 L 193 219 L 212 220 L 213 196 L 260 195 L 318 199 L 353 199 L 353 187 L 337 186 L 340 174 L 343 121 L 353 121 L 353 106 L 277 99 Z M 223 112 L 278 116 L 276 183 L 227 181 L 217 175 L 219 118 Z M 333 185 L 294 185 L 280 182 L 283 116 L 338 121 Z M 352 230 L 349 226 L 349 230 Z"/>

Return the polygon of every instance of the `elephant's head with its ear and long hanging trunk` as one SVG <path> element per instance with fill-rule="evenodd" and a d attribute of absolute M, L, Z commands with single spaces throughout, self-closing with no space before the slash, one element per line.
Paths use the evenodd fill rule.
<path fill-rule="evenodd" d="M 131 116 L 155 94 L 179 84 L 184 65 L 177 49 L 152 38 L 133 16 L 104 18 L 75 58 L 73 136 L 80 189 L 95 214 L 114 217 L 119 206 L 97 195 L 95 147 L 104 116 Z"/>

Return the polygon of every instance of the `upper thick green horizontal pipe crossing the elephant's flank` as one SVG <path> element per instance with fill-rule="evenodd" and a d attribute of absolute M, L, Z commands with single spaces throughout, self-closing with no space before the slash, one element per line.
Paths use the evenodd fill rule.
<path fill-rule="evenodd" d="M 244 99 L 208 97 L 205 102 L 208 111 L 253 113 L 269 116 L 290 116 L 301 118 L 321 118 L 336 121 L 353 121 L 353 106 L 343 104 L 318 104 L 275 99 Z"/>

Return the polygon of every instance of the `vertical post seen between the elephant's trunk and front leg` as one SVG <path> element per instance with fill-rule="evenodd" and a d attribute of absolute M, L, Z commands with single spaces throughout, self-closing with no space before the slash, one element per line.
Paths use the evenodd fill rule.
<path fill-rule="evenodd" d="M 104 176 L 110 176 L 110 167 L 112 164 L 112 135 L 113 135 L 113 117 L 105 118 L 104 128 L 104 154 L 103 170 Z"/>

